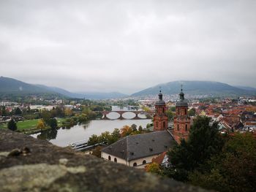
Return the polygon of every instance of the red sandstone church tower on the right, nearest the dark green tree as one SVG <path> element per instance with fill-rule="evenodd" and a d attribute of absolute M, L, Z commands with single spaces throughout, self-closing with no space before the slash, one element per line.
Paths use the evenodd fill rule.
<path fill-rule="evenodd" d="M 181 139 L 187 139 L 189 137 L 190 118 L 188 115 L 188 104 L 184 99 L 184 93 L 179 93 L 180 99 L 176 103 L 176 115 L 173 120 L 174 129 L 173 137 L 176 142 L 180 143 Z"/>

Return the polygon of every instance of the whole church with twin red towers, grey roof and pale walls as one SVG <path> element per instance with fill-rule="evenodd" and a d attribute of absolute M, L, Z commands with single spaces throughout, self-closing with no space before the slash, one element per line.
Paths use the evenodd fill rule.
<path fill-rule="evenodd" d="M 101 157 L 127 166 L 143 169 L 152 159 L 157 159 L 181 139 L 187 139 L 190 128 L 188 104 L 181 88 L 180 99 L 176 103 L 174 128 L 167 128 L 167 107 L 159 91 L 155 104 L 154 131 L 147 134 L 129 135 L 102 149 Z"/>

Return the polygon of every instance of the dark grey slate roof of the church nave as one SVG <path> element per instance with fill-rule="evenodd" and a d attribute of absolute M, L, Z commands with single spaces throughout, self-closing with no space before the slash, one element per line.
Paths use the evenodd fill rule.
<path fill-rule="evenodd" d="M 167 131 L 129 135 L 105 147 L 102 152 L 126 161 L 157 155 L 173 147 L 176 141 Z"/>

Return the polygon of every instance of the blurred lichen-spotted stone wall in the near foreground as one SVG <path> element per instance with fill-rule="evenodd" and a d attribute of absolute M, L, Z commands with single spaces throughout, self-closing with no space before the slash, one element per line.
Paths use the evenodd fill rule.
<path fill-rule="evenodd" d="M 204 191 L 0 130 L 0 191 Z"/>

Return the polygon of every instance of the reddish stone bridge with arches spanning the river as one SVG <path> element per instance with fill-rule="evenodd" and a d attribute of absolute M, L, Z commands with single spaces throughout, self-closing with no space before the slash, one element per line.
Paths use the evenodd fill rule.
<path fill-rule="evenodd" d="M 110 118 L 107 117 L 107 115 L 110 113 L 110 112 L 116 112 L 118 113 L 120 116 L 118 118 L 115 118 L 115 119 L 120 119 L 120 120 L 123 120 L 123 119 L 149 119 L 148 116 L 146 116 L 146 118 L 140 118 L 139 115 L 154 115 L 154 111 L 149 111 L 149 112 L 146 112 L 146 111 L 102 111 L 102 119 L 104 120 L 112 120 Z M 126 112 L 132 112 L 135 114 L 135 117 L 134 118 L 124 118 L 123 114 L 126 113 Z"/>

